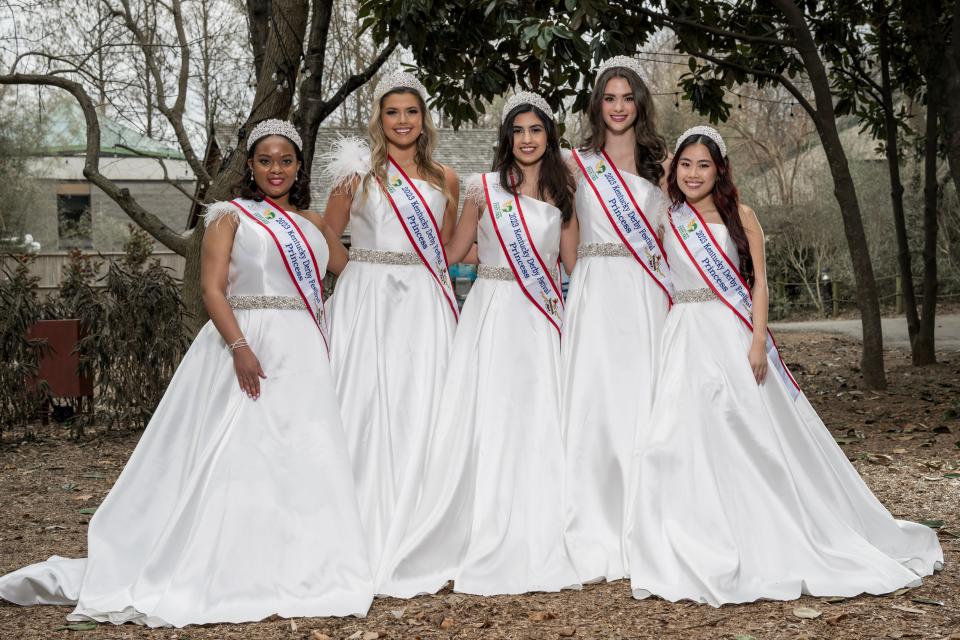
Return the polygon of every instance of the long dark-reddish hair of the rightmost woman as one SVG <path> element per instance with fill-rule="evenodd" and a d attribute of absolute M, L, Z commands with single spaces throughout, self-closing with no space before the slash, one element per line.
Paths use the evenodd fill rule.
<path fill-rule="evenodd" d="M 717 206 L 720 219 L 727 226 L 730 238 L 737 245 L 737 256 L 740 258 L 740 275 L 752 289 L 754 282 L 753 258 L 750 257 L 750 243 L 747 241 L 747 232 L 744 231 L 743 222 L 740 220 L 740 194 L 737 192 L 737 186 L 733 184 L 730 158 L 723 157 L 716 142 L 707 136 L 692 135 L 680 143 L 673 160 L 670 161 L 670 175 L 667 177 L 670 199 L 675 203 L 684 202 L 687 199 L 677 184 L 677 164 L 680 162 L 683 150 L 693 144 L 705 146 L 710 152 L 713 164 L 717 167 L 717 179 L 713 183 L 713 191 L 710 194 L 713 196 L 713 203 Z"/>

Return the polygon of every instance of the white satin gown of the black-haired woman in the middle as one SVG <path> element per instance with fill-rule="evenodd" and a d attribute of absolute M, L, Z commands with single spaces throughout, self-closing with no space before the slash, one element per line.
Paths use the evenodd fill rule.
<path fill-rule="evenodd" d="M 552 268 L 560 212 L 522 197 Z M 480 262 L 506 267 L 486 208 Z M 467 297 L 438 419 L 391 528 L 379 594 L 557 591 L 577 583 L 563 546 L 560 338 L 515 281 L 478 279 Z"/>

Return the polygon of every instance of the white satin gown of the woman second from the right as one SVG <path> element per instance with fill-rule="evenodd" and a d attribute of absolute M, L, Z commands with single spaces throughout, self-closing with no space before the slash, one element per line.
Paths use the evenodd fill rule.
<path fill-rule="evenodd" d="M 564 317 L 565 540 L 581 582 L 627 575 L 623 535 L 634 438 L 648 427 L 667 317 L 663 289 L 629 253 L 579 169 L 580 248 Z M 659 187 L 621 172 L 655 227 Z M 656 231 L 656 229 L 654 229 Z"/>

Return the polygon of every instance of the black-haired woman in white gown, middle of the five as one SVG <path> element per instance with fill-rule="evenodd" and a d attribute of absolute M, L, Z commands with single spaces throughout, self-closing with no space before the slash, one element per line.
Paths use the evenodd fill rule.
<path fill-rule="evenodd" d="M 511 98 L 495 171 L 468 183 L 450 257 L 472 251 L 479 218 L 478 279 L 377 593 L 433 593 L 448 580 L 480 595 L 576 585 L 562 538 L 562 302 L 551 273 L 561 245 L 575 251 L 566 238 L 573 180 L 552 117 L 540 96 Z"/>

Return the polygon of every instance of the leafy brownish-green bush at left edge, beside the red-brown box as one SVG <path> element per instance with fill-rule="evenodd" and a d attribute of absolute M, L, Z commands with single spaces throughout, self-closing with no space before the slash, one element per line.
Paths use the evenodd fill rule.
<path fill-rule="evenodd" d="M 0 264 L 0 434 L 27 426 L 49 397 L 44 381 L 31 382 L 48 348 L 45 341 L 26 337 L 43 314 L 40 279 L 30 275 L 32 260 L 17 256 Z"/>

